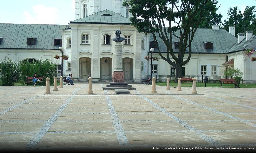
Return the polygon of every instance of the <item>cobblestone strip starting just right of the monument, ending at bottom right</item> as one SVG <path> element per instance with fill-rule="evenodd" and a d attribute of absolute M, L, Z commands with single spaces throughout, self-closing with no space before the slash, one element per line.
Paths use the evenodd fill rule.
<path fill-rule="evenodd" d="M 149 100 L 148 98 L 139 95 L 140 93 L 136 90 L 133 90 L 136 94 L 138 94 L 139 97 L 143 98 L 144 100 L 146 100 L 147 102 L 149 102 L 151 105 L 153 105 L 155 108 L 161 110 L 163 113 L 165 113 L 166 115 L 168 115 L 169 117 L 171 117 L 173 120 L 177 121 L 178 123 L 180 123 L 182 126 L 184 126 L 185 128 L 189 129 L 191 132 L 193 132 L 195 135 L 199 136 L 200 138 L 202 138 L 203 140 L 205 140 L 206 142 L 213 144 L 213 145 L 220 145 L 221 143 L 214 140 L 213 138 L 211 138 L 208 135 L 205 135 L 204 133 L 200 132 L 200 130 L 198 130 L 197 128 L 194 128 L 190 125 L 188 125 L 186 122 L 184 122 L 183 120 L 179 119 L 178 117 L 174 116 L 173 114 L 171 114 L 170 112 L 166 111 L 165 109 L 163 109 L 161 106 L 157 105 L 156 103 L 154 103 L 153 101 Z"/>

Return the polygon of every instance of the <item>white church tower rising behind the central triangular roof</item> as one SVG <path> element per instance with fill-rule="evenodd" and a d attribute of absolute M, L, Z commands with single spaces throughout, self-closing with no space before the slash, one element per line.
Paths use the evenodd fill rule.
<path fill-rule="evenodd" d="M 83 18 L 106 9 L 129 18 L 128 7 L 124 7 L 123 2 L 123 0 L 75 0 L 75 19 Z"/>

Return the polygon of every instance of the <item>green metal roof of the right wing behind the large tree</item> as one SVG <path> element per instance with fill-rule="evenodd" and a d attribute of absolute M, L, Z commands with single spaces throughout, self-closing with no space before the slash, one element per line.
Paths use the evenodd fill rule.
<path fill-rule="evenodd" d="M 180 32 L 174 32 L 175 35 L 179 36 Z M 159 38 L 158 33 L 156 38 L 158 41 L 158 47 L 161 52 L 167 52 L 166 46 L 162 39 Z M 169 36 L 169 35 L 168 35 Z M 175 49 L 174 42 L 179 41 L 178 38 L 172 35 L 173 38 L 173 51 L 178 53 L 178 49 Z M 153 40 L 153 35 L 150 34 L 150 41 Z M 205 49 L 205 42 L 213 43 L 213 49 Z M 213 30 L 213 29 L 197 29 L 193 41 L 191 43 L 191 52 L 192 53 L 226 53 L 231 47 L 235 45 L 237 38 L 231 33 L 227 32 L 224 29 Z M 155 52 L 158 50 L 155 48 Z M 188 49 L 186 51 L 188 53 Z"/>

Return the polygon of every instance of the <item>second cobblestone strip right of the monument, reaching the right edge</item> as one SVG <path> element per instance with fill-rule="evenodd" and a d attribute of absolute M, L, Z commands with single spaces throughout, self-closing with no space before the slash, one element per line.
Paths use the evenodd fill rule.
<path fill-rule="evenodd" d="M 169 92 L 167 92 L 167 91 L 163 91 L 163 92 L 169 93 Z M 196 102 L 190 101 L 190 100 L 185 99 L 185 98 L 181 98 L 181 97 L 176 96 L 176 95 L 173 95 L 173 96 L 176 97 L 176 98 L 179 98 L 179 99 L 181 99 L 181 100 L 190 102 L 191 104 L 194 104 L 194 105 L 203 107 L 203 108 L 205 108 L 205 109 L 208 109 L 208 110 L 210 110 L 210 111 L 213 111 L 213 112 L 215 112 L 215 113 L 224 115 L 224 116 L 229 117 L 229 118 L 231 118 L 231 119 L 239 120 L 240 122 L 243 122 L 243 123 L 248 124 L 248 125 L 250 125 L 250 126 L 256 127 L 256 124 L 250 123 L 250 122 L 248 122 L 248 121 L 246 121 L 246 120 L 243 120 L 243 119 L 240 119 L 240 118 L 238 118 L 238 117 L 231 116 L 231 115 L 229 115 L 228 113 L 222 113 L 222 112 L 217 111 L 217 110 L 215 110 L 215 109 L 213 109 L 213 108 L 206 107 L 206 106 L 204 106 L 204 105 L 198 104 L 198 103 L 196 103 Z M 233 107 L 232 107 L 232 108 L 233 108 Z"/>

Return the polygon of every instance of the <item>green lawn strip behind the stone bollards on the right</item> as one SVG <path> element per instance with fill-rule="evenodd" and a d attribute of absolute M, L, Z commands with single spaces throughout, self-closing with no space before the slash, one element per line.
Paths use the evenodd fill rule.
<path fill-rule="evenodd" d="M 156 82 L 156 85 L 166 86 L 166 82 Z M 171 87 L 176 87 L 177 83 L 170 82 Z M 182 87 L 192 87 L 192 83 L 181 83 Z M 220 87 L 220 83 L 206 83 L 206 87 Z M 205 83 L 197 83 L 197 87 L 205 87 Z M 234 84 L 223 84 L 223 88 L 234 88 Z M 239 84 L 241 88 L 256 88 L 256 84 Z"/>

